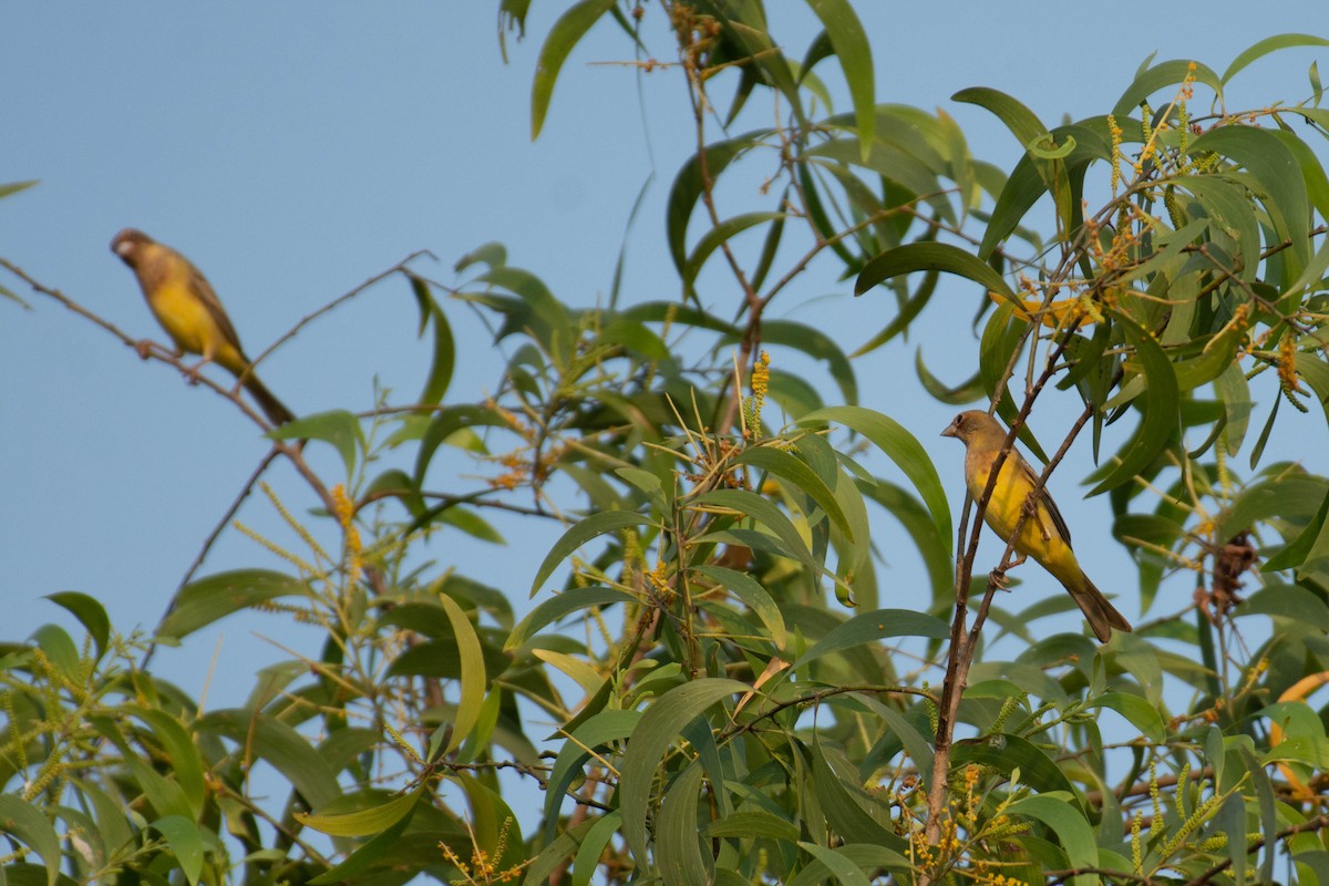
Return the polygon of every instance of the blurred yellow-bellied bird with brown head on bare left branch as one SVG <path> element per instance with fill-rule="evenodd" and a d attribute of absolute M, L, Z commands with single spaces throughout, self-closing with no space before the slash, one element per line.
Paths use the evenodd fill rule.
<path fill-rule="evenodd" d="M 203 356 L 193 369 L 195 377 L 205 364 L 217 363 L 254 395 L 274 425 L 295 417 L 251 371 L 235 327 L 193 262 L 132 227 L 116 235 L 110 251 L 138 278 L 148 307 L 175 343 L 175 356 L 186 352 Z"/>

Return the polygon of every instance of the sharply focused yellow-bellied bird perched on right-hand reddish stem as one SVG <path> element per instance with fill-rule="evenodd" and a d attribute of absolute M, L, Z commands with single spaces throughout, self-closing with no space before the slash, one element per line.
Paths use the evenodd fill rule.
<path fill-rule="evenodd" d="M 986 412 L 971 409 L 956 416 L 942 437 L 958 437 L 965 444 L 965 485 L 969 494 L 977 502 L 982 498 L 987 487 L 987 477 L 991 473 L 997 453 L 1006 442 L 1006 429 Z M 1015 531 L 1019 515 L 1029 506 L 1030 493 L 1038 482 L 1038 474 L 1023 457 L 1011 449 L 1002 462 L 1001 473 L 997 476 L 997 485 L 993 486 L 991 498 L 983 511 L 983 519 L 1007 541 Z M 1053 497 L 1043 489 L 1038 494 L 1037 506 L 1030 511 L 1025 526 L 1015 539 L 1015 553 L 1019 559 L 1015 566 L 1023 563 L 1027 557 L 1038 561 L 1043 569 L 1061 582 L 1066 591 L 1080 607 L 1088 624 L 1094 628 L 1094 636 L 1099 643 L 1107 643 L 1112 638 L 1112 628 L 1130 631 L 1131 624 L 1126 618 L 1107 602 L 1107 598 L 1094 587 L 1094 583 L 1084 575 L 1084 570 L 1075 562 L 1075 551 L 1071 550 L 1071 533 L 1066 529 L 1062 513 L 1057 510 Z"/>

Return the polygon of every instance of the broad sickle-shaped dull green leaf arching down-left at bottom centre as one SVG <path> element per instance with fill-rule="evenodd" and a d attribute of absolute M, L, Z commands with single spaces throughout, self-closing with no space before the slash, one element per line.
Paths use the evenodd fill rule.
<path fill-rule="evenodd" d="M 738 680 L 700 677 L 674 687 L 651 704 L 633 731 L 623 756 L 618 782 L 623 838 L 639 863 L 646 865 L 646 812 L 651 782 L 668 747 L 703 711 L 726 696 L 748 692 L 752 687 Z"/>

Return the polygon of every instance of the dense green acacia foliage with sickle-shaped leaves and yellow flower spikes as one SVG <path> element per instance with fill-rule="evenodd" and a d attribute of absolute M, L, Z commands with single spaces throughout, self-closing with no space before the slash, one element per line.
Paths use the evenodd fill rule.
<path fill-rule="evenodd" d="M 500 5 L 524 24 L 525 3 Z M 1329 41 L 1265 40 L 1221 74 L 1151 61 L 1054 128 L 958 93 L 1023 146 L 1002 170 L 944 112 L 877 102 L 848 0 L 809 7 L 823 31 L 799 57 L 754 1 L 562 13 L 537 134 L 597 23 L 643 61 L 676 46 L 698 143 L 661 244 L 676 298 L 573 310 L 497 244 L 457 286 L 397 268 L 435 344 L 413 408 L 274 434 L 304 468 L 280 441 L 343 457 L 350 482 L 310 477 L 338 543 L 193 580 L 157 630 L 189 642 L 264 610 L 320 626 L 322 650 L 201 713 L 93 596 L 52 595 L 85 639 L 48 626 L 0 659 L 9 879 L 1329 882 L 1329 743 L 1305 701 L 1329 672 L 1329 480 L 1263 460 L 1273 434 L 1326 438 L 1297 413 L 1329 416 L 1329 112 L 1314 69 L 1298 104 L 1224 102 L 1263 54 Z M 780 122 L 734 134 L 756 105 Z M 726 191 L 752 167 L 777 170 L 764 203 Z M 1006 611 L 983 573 L 1010 553 L 975 565 L 974 503 L 957 521 L 908 422 L 857 404 L 853 355 L 768 316 L 813 266 L 893 303 L 859 353 L 897 347 L 938 292 L 969 299 L 971 376 L 948 387 L 920 355 L 920 385 L 994 402 L 1045 477 L 1092 446 L 1091 494 L 1138 565 L 1134 634 L 1033 630 L 1061 595 Z M 461 307 L 508 355 L 492 397 L 455 391 Z M 783 372 L 792 352 L 832 385 Z M 1038 440 L 1025 420 L 1053 400 L 1080 418 Z M 505 549 L 529 584 L 412 558 L 456 533 L 501 543 L 512 511 L 566 526 L 549 551 Z M 889 595 L 912 607 L 882 608 L 884 513 L 925 563 Z M 1179 573 L 1193 595 L 1160 594 Z M 998 626 L 1011 658 L 986 651 Z M 552 737 L 530 725 L 548 719 Z M 254 790 L 259 761 L 280 796 Z"/>

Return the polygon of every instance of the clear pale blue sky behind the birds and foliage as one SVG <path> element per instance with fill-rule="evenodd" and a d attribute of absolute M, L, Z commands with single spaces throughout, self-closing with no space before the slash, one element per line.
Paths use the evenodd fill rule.
<path fill-rule="evenodd" d="M 801 56 L 816 32 L 805 4 L 769 5 L 776 36 Z M 1195 57 L 1221 70 L 1260 37 L 1324 21 L 1313 3 L 1271 4 L 1257 17 L 1233 3 L 1184 16 L 1181 7 L 1138 1 L 859 5 L 873 39 L 878 101 L 945 109 L 975 155 L 1006 167 L 1018 145 L 985 112 L 952 102 L 956 90 L 994 86 L 1057 122 L 1110 108 L 1155 50 L 1160 60 Z M 451 280 L 459 256 L 501 240 L 512 263 L 561 298 L 593 304 L 609 291 L 633 199 L 654 175 L 631 232 L 625 294 L 676 298 L 662 231 L 668 183 L 691 150 L 678 74 L 639 77 L 591 64 L 629 57 L 617 29 L 602 23 L 565 66 L 545 130 L 532 142 L 532 74 L 563 7 L 534 3 L 529 36 L 509 36 L 504 65 L 496 3 L 15 5 L 0 53 L 0 181 L 41 185 L 0 202 L 0 255 L 132 335 L 162 340 L 132 275 L 108 251 L 117 230 L 141 227 L 207 274 L 255 353 L 416 250 L 440 259 L 421 270 Z M 670 58 L 666 41 L 654 50 Z M 1316 57 L 1301 50 L 1260 62 L 1229 104 L 1302 98 Z M 58 590 L 102 599 L 122 631 L 150 628 L 266 446 L 225 401 L 141 363 L 17 280 L 0 283 L 35 308 L 0 302 L 5 639 L 47 620 L 68 623 L 41 599 Z M 855 300 L 848 288 L 823 268 L 797 283 L 784 308 L 803 321 L 824 317 L 849 351 L 888 321 L 889 304 Z M 968 319 L 971 292 L 958 284 L 950 292 Z M 813 296 L 825 298 L 795 307 Z M 944 321 L 942 296 L 932 313 Z M 724 303 L 723 294 L 714 302 Z M 474 400 L 496 388 L 501 359 L 466 313 L 453 320 L 461 353 L 449 399 Z M 283 347 L 264 361 L 263 377 L 298 413 L 363 409 L 375 380 L 413 395 L 428 367 L 415 321 L 405 284 L 383 284 Z M 960 452 L 936 436 L 953 409 L 921 393 L 912 371 L 920 344 L 941 371 L 952 343 L 928 337 L 938 328 L 925 325 L 908 345 L 872 355 L 859 373 L 863 404 L 914 430 L 958 509 Z M 961 363 L 946 377 L 970 371 Z M 1058 413 L 1047 414 L 1051 425 Z M 1318 424 L 1310 430 L 1322 433 Z M 331 453 L 314 458 L 339 476 Z M 1074 482 L 1088 466 L 1087 453 L 1073 453 L 1053 484 L 1078 538 L 1106 535 L 1110 521 L 1104 501 L 1078 501 Z M 271 480 L 292 510 L 312 505 L 287 469 Z M 241 518 L 290 538 L 262 499 Z M 874 527 L 884 538 L 898 531 L 884 515 Z M 510 529 L 514 549 L 498 558 L 452 541 L 429 555 L 521 599 L 557 530 Z M 897 578 L 918 574 L 900 559 L 892 563 Z M 1115 546 L 1095 546 L 1082 559 L 1091 575 L 1134 586 L 1134 567 Z M 229 533 L 203 571 L 239 566 L 282 565 Z M 1046 575 L 1025 579 L 1025 587 L 1054 592 Z M 1106 578 L 1099 583 L 1112 590 Z M 1132 603 L 1123 610 L 1138 611 Z M 231 619 L 162 662 L 197 692 L 221 639 L 217 673 L 235 676 L 215 680 L 211 692 L 234 703 L 254 663 L 279 656 L 255 632 L 286 642 L 288 630 L 272 619 Z"/>

